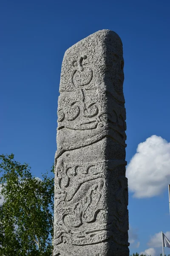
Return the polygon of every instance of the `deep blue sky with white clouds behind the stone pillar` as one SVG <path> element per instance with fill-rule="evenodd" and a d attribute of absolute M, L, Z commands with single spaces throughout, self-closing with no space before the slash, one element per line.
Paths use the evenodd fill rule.
<path fill-rule="evenodd" d="M 170 239 L 169 13 L 168 0 L 0 1 L 0 154 L 14 153 L 39 177 L 54 162 L 65 50 L 100 29 L 121 37 L 130 253 L 152 256 L 161 230 Z"/>

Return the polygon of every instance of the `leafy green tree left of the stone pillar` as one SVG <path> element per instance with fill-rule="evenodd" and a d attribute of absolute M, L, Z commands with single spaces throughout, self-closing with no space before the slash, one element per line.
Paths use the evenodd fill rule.
<path fill-rule="evenodd" d="M 0 172 L 0 256 L 51 256 L 54 174 L 34 177 L 14 154 L 0 155 Z"/>

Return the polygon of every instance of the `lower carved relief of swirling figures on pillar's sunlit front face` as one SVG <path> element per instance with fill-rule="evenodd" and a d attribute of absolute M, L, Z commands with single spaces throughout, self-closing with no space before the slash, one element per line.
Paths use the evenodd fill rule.
<path fill-rule="evenodd" d="M 102 234 L 107 224 L 107 212 L 104 209 L 103 165 L 58 165 L 55 183 L 55 244 L 62 243 L 65 237 L 70 237 L 72 243 L 77 245 L 88 244 L 91 237 L 94 237 L 94 242 L 104 237 Z M 85 232 L 87 229 L 90 231 Z"/>

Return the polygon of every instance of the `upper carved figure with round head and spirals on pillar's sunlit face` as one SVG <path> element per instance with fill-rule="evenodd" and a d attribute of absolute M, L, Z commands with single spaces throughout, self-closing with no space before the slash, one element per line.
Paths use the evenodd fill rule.
<path fill-rule="evenodd" d="M 64 95 L 64 108 L 58 111 L 58 122 L 60 128 L 62 126 L 70 129 L 76 130 L 86 130 L 96 128 L 99 120 L 96 120 L 99 114 L 99 106 L 97 106 L 98 95 L 94 92 L 94 102 L 92 102 L 92 97 L 89 98 L 86 95 L 86 85 L 88 90 L 91 90 L 90 83 L 93 79 L 93 71 L 88 67 L 87 63 L 84 61 L 87 59 L 87 55 L 73 61 L 73 66 L 75 70 L 72 75 L 72 83 L 75 87 L 74 95 L 65 96 Z M 96 94 L 96 95 L 95 95 Z M 80 118 L 77 119 L 80 115 Z M 93 119 L 95 117 L 95 119 Z M 74 121 L 71 123 L 68 121 Z M 95 124 L 94 124 L 95 123 Z"/>

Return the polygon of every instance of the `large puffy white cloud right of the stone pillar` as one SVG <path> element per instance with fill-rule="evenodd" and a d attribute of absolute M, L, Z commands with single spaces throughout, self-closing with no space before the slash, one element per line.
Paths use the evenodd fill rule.
<path fill-rule="evenodd" d="M 170 183 L 170 143 L 156 135 L 139 143 L 126 175 L 133 197 L 160 195 Z"/>

